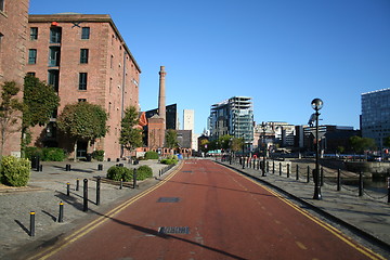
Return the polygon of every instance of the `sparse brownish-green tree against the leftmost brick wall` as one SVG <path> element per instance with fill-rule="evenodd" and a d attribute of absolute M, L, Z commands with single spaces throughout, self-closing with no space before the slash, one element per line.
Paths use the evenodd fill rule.
<path fill-rule="evenodd" d="M 22 118 L 23 103 L 17 99 L 20 88 L 15 81 L 6 81 L 2 84 L 0 103 L 0 170 L 4 145 L 8 136 L 21 131 L 18 120 Z"/>

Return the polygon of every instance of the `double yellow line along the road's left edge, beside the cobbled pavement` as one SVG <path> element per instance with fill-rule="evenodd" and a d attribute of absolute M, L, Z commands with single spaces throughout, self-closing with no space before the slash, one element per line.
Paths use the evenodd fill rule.
<path fill-rule="evenodd" d="M 65 237 L 61 245 L 51 246 L 51 247 L 47 248 L 46 250 L 42 250 L 39 253 L 28 258 L 28 260 L 35 260 L 35 259 L 44 260 L 44 259 L 52 257 L 53 255 L 55 255 L 63 248 L 69 246 L 70 244 L 75 243 L 82 236 L 87 235 L 89 232 L 96 229 L 98 226 L 100 226 L 101 224 L 106 222 L 107 220 L 112 219 L 115 214 L 119 213 L 120 211 L 122 211 L 123 209 L 129 207 L 131 204 L 135 203 L 138 199 L 146 196 L 151 192 L 153 192 L 153 191 L 157 190 L 159 186 L 164 185 L 167 181 L 169 181 L 172 177 L 174 177 L 180 171 L 182 166 L 183 166 L 183 164 L 179 165 L 179 167 L 174 171 L 172 171 L 167 178 L 161 180 L 161 182 L 159 182 L 156 185 L 150 187 L 148 190 L 145 190 L 142 193 L 135 195 L 134 197 L 130 198 L 129 200 L 125 202 L 123 204 L 109 210 L 104 216 L 95 219 L 94 221 L 90 222 L 86 226 L 81 227 L 80 230 L 78 230 L 78 231 L 74 232 L 73 234 L 70 234 L 69 236 Z"/>

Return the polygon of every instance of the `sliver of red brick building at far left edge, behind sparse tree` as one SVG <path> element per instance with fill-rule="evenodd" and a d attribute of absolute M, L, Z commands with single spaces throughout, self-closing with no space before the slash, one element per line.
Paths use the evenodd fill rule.
<path fill-rule="evenodd" d="M 0 84 L 15 81 L 23 96 L 24 67 L 26 64 L 26 38 L 28 0 L 0 0 Z M 4 155 L 20 155 L 21 121 L 6 134 Z M 11 132 L 10 131 L 10 132 Z"/>

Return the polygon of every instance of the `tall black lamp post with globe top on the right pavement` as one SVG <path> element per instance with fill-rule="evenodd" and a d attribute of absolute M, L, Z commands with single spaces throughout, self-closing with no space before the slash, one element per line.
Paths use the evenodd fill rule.
<path fill-rule="evenodd" d="M 324 102 L 321 99 L 314 99 L 311 103 L 315 110 L 315 172 L 314 178 L 314 196 L 313 199 L 322 199 L 321 195 L 321 183 L 320 183 L 320 145 L 318 145 L 318 110 L 323 107 Z"/>

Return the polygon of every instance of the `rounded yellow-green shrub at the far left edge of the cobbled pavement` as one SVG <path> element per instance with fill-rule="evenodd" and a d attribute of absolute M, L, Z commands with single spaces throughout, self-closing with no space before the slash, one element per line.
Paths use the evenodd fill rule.
<path fill-rule="evenodd" d="M 10 186 L 25 186 L 28 183 L 31 162 L 28 159 L 4 156 L 0 182 Z"/>

